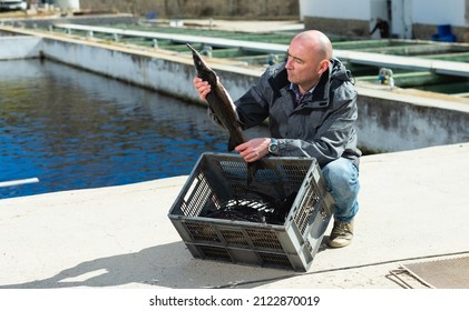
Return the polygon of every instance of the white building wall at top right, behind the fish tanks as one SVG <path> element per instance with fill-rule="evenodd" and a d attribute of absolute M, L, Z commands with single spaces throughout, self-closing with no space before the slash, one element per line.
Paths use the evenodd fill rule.
<path fill-rule="evenodd" d="M 469 0 L 300 0 L 300 16 L 306 29 L 356 37 L 368 37 L 378 18 L 403 39 L 430 40 L 450 24 L 457 41 L 469 42 Z"/>

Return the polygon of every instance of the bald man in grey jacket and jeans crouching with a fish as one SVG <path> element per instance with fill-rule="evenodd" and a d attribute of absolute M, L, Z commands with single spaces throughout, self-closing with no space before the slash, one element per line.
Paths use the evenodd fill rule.
<path fill-rule="evenodd" d="M 255 138 L 235 148 L 246 162 L 263 157 L 312 157 L 335 200 L 329 245 L 349 245 L 359 210 L 356 91 L 349 70 L 332 57 L 329 38 L 316 30 L 296 34 L 283 63 L 270 67 L 236 102 L 243 129 L 268 118 L 272 138 Z M 202 99 L 211 86 L 194 78 Z"/>

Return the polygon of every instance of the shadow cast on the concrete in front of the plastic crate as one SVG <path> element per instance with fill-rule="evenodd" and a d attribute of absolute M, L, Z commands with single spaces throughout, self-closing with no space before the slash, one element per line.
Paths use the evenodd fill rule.
<path fill-rule="evenodd" d="M 0 285 L 0 289 L 254 288 L 301 274 L 286 269 L 194 259 L 180 241 L 143 249 L 139 252 L 86 261 L 65 269 L 51 278 L 4 284 Z"/>

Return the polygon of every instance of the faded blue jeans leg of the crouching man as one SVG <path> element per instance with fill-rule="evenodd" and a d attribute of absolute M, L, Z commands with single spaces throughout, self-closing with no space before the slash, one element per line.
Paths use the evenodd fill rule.
<path fill-rule="evenodd" d="M 322 169 L 329 192 L 335 201 L 334 218 L 351 221 L 359 211 L 359 170 L 350 160 L 339 158 Z"/>

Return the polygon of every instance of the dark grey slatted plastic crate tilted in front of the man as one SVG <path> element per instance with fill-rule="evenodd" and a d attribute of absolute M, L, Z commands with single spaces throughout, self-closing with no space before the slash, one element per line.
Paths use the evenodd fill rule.
<path fill-rule="evenodd" d="M 314 158 L 265 158 L 247 184 L 238 154 L 201 156 L 169 219 L 194 258 L 306 271 L 333 213 Z"/>

